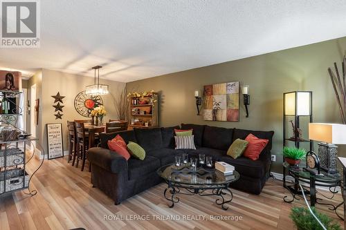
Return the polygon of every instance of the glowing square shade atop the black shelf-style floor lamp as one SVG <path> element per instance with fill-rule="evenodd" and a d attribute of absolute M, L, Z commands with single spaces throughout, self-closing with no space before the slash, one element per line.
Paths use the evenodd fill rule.
<path fill-rule="evenodd" d="M 311 115 L 311 92 L 284 93 L 284 115 Z"/>

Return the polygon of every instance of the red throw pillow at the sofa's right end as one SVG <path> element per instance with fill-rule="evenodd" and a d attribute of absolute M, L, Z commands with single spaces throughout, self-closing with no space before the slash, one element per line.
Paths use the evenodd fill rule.
<path fill-rule="evenodd" d="M 245 149 L 243 155 L 251 160 L 257 160 L 260 157 L 260 153 L 269 142 L 269 140 L 260 139 L 251 133 L 245 138 L 245 140 L 248 142 L 248 147 Z"/>

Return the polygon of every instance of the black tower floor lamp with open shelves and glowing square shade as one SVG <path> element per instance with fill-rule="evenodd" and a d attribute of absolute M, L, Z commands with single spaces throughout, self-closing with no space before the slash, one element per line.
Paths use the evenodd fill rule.
<path fill-rule="evenodd" d="M 312 92 L 293 91 L 284 93 L 283 147 L 294 145 L 296 148 L 303 147 L 307 151 L 312 151 L 313 141 L 307 138 L 309 123 L 311 122 L 313 122 Z M 300 127 L 304 128 L 301 129 Z M 282 159 L 285 162 L 284 156 Z M 287 188 L 285 166 L 282 166 L 282 175 L 283 186 Z M 293 190 L 298 191 L 298 188 Z"/>

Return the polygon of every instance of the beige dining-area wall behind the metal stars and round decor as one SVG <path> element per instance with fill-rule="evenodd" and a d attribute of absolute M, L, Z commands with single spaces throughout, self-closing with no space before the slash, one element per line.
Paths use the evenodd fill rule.
<path fill-rule="evenodd" d="M 125 83 L 107 81 L 104 79 L 101 79 L 100 82 L 102 82 L 102 84 L 109 84 L 111 92 L 109 95 L 102 96 L 104 106 L 108 111 L 108 115 L 104 119 L 116 119 L 118 117 L 116 115 L 116 108 L 113 104 L 113 97 L 116 97 L 121 93 L 122 89 L 125 87 Z M 69 146 L 66 127 L 67 121 L 73 121 L 74 119 L 88 119 L 82 117 L 82 115 L 75 111 L 75 96 L 82 90 L 85 90 L 85 86 L 94 83 L 93 77 L 84 77 L 81 75 L 72 75 L 69 73 L 43 69 L 42 72 L 31 77 L 28 83 L 29 88 L 35 83 L 39 86 L 37 88 L 37 98 L 40 99 L 40 110 L 39 128 L 37 129 L 37 133 L 39 133 L 39 143 L 44 146 L 44 152 L 47 154 L 46 124 L 50 123 L 62 123 L 64 150 L 66 151 Z M 51 95 L 56 95 L 57 92 L 60 92 L 60 95 L 65 96 L 63 99 L 64 104 L 62 104 L 64 106 L 62 109 L 62 114 L 64 114 L 62 119 L 55 119 L 54 115 L 54 98 L 51 97 Z M 30 93 L 28 99 L 30 99 Z M 30 102 L 30 104 L 35 106 L 35 102 Z"/>

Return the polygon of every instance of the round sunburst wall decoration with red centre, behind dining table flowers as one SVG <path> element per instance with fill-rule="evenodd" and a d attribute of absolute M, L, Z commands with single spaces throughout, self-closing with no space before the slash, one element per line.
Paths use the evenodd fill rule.
<path fill-rule="evenodd" d="M 102 106 L 103 101 L 100 96 L 86 95 L 85 90 L 75 96 L 75 110 L 83 117 L 91 117 L 93 108 Z"/>

